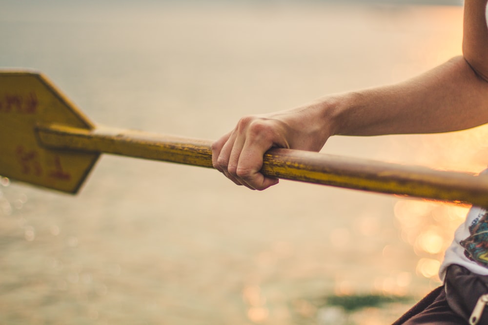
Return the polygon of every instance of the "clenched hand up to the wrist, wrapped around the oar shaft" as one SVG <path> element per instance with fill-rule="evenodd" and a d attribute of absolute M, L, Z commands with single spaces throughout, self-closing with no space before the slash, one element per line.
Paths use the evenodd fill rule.
<path fill-rule="evenodd" d="M 329 135 L 319 117 L 322 106 L 241 118 L 233 131 L 213 143 L 214 168 L 251 190 L 278 184 L 260 172 L 264 153 L 273 147 L 319 151 Z"/>

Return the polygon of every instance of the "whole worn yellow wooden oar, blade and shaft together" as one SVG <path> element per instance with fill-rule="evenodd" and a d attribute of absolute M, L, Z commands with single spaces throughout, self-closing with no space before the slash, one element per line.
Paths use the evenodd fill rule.
<path fill-rule="evenodd" d="M 211 141 L 95 126 L 45 76 L 0 72 L 0 174 L 76 193 L 101 153 L 212 167 Z M 488 207 L 488 176 L 273 149 L 271 177 Z"/>

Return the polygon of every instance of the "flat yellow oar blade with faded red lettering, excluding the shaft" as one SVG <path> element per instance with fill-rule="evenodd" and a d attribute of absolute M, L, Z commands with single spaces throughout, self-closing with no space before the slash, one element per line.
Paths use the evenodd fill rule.
<path fill-rule="evenodd" d="M 36 129 L 51 123 L 94 128 L 42 74 L 0 71 L 0 175 L 76 193 L 99 153 L 42 147 Z"/>

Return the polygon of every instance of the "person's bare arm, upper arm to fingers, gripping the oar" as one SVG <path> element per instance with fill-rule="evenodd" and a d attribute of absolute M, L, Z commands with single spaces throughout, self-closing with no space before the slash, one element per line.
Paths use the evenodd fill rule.
<path fill-rule="evenodd" d="M 487 1 L 465 1 L 463 56 L 398 84 L 244 116 L 213 143 L 214 168 L 237 185 L 264 190 L 278 183 L 260 172 L 272 147 L 318 152 L 332 135 L 442 133 L 488 123 Z"/>

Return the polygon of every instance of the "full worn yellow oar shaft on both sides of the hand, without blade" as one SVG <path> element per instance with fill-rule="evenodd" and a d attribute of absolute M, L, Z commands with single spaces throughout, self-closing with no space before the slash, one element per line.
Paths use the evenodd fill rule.
<path fill-rule="evenodd" d="M 212 167 L 211 141 L 207 140 L 113 128 L 89 131 L 60 125 L 39 127 L 38 135 L 42 145 L 51 149 Z M 308 183 L 488 207 L 488 176 L 287 149 L 266 153 L 262 172 Z"/>

